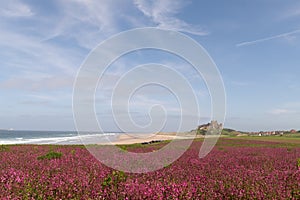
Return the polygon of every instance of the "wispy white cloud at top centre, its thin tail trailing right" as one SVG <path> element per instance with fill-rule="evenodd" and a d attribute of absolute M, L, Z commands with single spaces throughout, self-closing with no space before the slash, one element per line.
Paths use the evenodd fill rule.
<path fill-rule="evenodd" d="M 176 0 L 147 1 L 135 0 L 136 7 L 159 28 L 171 29 L 191 33 L 194 35 L 207 35 L 207 31 L 195 27 L 175 17 L 184 4 Z"/>

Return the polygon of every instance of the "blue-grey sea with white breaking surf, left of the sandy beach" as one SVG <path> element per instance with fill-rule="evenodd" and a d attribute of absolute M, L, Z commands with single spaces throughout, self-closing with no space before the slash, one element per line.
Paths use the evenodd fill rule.
<path fill-rule="evenodd" d="M 121 133 L 98 133 L 76 131 L 26 131 L 0 130 L 1 144 L 99 144 L 105 143 L 107 138 L 115 141 Z"/>

